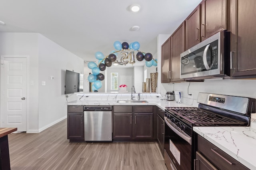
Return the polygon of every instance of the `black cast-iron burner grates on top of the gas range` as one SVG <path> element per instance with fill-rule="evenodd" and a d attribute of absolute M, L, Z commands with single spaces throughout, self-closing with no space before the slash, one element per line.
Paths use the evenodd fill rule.
<path fill-rule="evenodd" d="M 230 117 L 206 111 L 197 107 L 167 107 L 166 109 L 171 113 L 182 117 L 193 125 L 246 125 L 246 122 L 232 119 Z"/>

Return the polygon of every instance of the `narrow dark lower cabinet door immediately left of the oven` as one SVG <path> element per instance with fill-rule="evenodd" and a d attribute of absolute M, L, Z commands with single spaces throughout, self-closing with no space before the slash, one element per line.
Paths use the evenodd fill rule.
<path fill-rule="evenodd" d="M 157 115 L 157 140 L 159 148 L 164 155 L 164 119 Z"/>

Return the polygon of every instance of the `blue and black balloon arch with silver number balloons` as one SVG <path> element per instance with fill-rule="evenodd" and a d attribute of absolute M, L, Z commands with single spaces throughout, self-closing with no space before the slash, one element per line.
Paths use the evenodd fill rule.
<path fill-rule="evenodd" d="M 98 59 L 98 65 L 90 61 L 88 63 L 88 68 L 92 69 L 92 74 L 88 76 L 88 81 L 92 84 L 92 91 L 97 91 L 102 87 L 101 81 L 105 79 L 104 74 L 100 73 L 100 71 L 105 71 L 106 67 L 111 67 L 112 64 L 119 64 L 119 65 L 126 65 L 128 63 L 134 64 L 134 51 L 138 51 L 136 54 L 136 59 L 138 61 L 146 60 L 146 66 L 157 66 L 157 59 L 154 59 L 151 53 L 144 53 L 142 51 L 139 51 L 140 43 L 138 42 L 132 42 L 130 45 L 127 42 L 114 42 L 114 48 L 117 51 L 111 51 L 109 55 L 104 57 L 103 53 L 98 51 L 95 53 L 96 59 Z M 121 51 L 121 54 L 123 55 L 120 58 L 120 61 L 117 60 L 117 53 Z M 128 53 L 128 51 L 130 51 Z M 128 61 L 128 57 L 130 56 L 130 61 Z"/>

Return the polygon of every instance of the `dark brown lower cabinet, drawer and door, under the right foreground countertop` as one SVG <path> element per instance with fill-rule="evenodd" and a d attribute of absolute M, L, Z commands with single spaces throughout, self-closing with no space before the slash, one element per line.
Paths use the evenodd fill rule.
<path fill-rule="evenodd" d="M 207 160 L 207 161 L 206 161 Z M 198 135 L 196 170 L 249 170 L 214 144 Z"/>

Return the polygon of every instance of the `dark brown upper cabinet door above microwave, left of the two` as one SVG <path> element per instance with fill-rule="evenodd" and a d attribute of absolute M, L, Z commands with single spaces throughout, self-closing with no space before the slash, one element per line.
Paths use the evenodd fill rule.
<path fill-rule="evenodd" d="M 200 42 L 200 14 L 201 11 L 199 4 L 185 20 L 185 50 L 190 49 Z"/>

